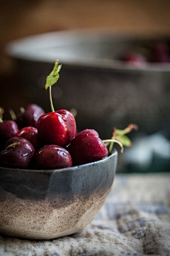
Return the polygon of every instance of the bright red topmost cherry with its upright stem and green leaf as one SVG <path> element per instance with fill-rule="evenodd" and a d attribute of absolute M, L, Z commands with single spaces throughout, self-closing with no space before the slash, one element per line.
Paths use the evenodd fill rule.
<path fill-rule="evenodd" d="M 45 144 L 56 144 L 59 146 L 67 146 L 75 137 L 76 121 L 71 112 L 67 110 L 55 111 L 52 104 L 52 85 L 57 82 L 59 72 L 62 65 L 58 65 L 59 60 L 56 60 L 55 66 L 47 76 L 45 89 L 49 88 L 50 106 L 52 112 L 43 114 L 38 119 L 38 134 L 40 139 Z"/>

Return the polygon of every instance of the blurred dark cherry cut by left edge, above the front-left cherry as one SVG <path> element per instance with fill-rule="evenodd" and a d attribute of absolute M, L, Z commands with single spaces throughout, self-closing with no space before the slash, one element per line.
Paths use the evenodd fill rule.
<path fill-rule="evenodd" d="M 16 122 L 8 120 L 0 122 L 0 147 L 3 148 L 8 139 L 19 131 Z"/>

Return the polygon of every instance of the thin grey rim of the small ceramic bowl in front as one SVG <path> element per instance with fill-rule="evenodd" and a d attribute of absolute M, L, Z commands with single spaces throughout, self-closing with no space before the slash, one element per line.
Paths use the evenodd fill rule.
<path fill-rule="evenodd" d="M 78 166 L 72 166 L 72 167 L 67 167 L 67 168 L 62 168 L 62 169 L 18 169 L 18 168 L 10 168 L 10 167 L 2 167 L 0 166 L 0 173 L 1 171 L 16 171 L 16 172 L 30 172 L 30 173 L 39 173 L 39 174 L 52 174 L 52 173 L 57 173 L 57 172 L 65 172 L 65 171 L 77 171 L 81 168 L 86 168 L 88 166 L 96 166 L 98 164 L 104 164 L 106 161 L 112 159 L 113 157 L 118 156 L 118 151 L 117 149 L 113 149 L 113 152 L 110 156 L 106 156 L 105 158 L 98 160 L 98 161 L 94 161 L 88 164 L 80 164 Z"/>

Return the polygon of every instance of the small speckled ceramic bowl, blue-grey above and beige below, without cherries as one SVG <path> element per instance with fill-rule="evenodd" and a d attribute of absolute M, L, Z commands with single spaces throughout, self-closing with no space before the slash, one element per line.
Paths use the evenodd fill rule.
<path fill-rule="evenodd" d="M 118 152 L 67 169 L 0 168 L 0 233 L 43 240 L 71 235 L 94 219 L 111 190 Z"/>

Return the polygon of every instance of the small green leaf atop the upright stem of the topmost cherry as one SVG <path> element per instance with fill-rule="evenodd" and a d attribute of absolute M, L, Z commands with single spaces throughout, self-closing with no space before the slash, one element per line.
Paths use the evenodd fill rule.
<path fill-rule="evenodd" d="M 50 73 L 50 75 L 47 75 L 45 90 L 47 90 L 50 86 L 55 85 L 57 80 L 59 80 L 60 78 L 59 73 L 61 68 L 62 68 L 62 65 L 61 64 L 59 65 L 59 60 L 56 60 L 52 72 Z"/>

